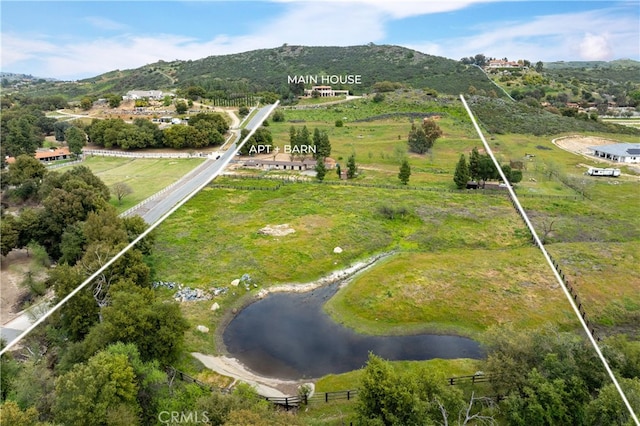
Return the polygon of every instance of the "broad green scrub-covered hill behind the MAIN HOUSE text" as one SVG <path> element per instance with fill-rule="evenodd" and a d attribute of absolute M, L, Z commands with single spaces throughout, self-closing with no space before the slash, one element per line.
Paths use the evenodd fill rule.
<path fill-rule="evenodd" d="M 371 92 L 383 81 L 430 88 L 457 95 L 469 86 L 489 92 L 495 87 L 473 66 L 400 46 L 307 47 L 283 45 L 273 49 L 209 56 L 194 61 L 160 61 L 131 70 L 114 70 L 79 82 L 31 85 L 32 95 L 82 96 L 124 94 L 128 90 L 180 90 L 202 87 L 207 95 L 233 97 L 262 91 L 286 95 L 288 76 L 360 75 L 361 84 L 333 85 L 354 94 Z"/>

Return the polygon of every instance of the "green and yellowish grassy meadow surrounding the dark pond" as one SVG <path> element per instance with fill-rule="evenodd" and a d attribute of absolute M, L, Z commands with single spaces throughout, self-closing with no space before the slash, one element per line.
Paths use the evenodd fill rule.
<path fill-rule="evenodd" d="M 311 133 L 318 128 L 328 133 L 331 156 L 343 167 L 355 153 L 359 175 L 346 184 L 333 171 L 324 183 L 219 177 L 159 227 L 150 257 L 153 279 L 209 289 L 228 287 L 249 274 L 257 284 L 249 292 L 230 287 L 213 301 L 184 303 L 192 325 L 187 351 L 221 352 L 219 338 L 195 327 L 219 332 L 231 310 L 260 288 L 311 282 L 391 251 L 395 254 L 356 276 L 325 305 L 336 321 L 362 333 L 427 331 L 478 340 L 489 327 L 505 323 L 533 328 L 553 322 L 577 329 L 564 294 L 506 193 L 455 190 L 460 154 L 482 147 L 457 100 L 432 99 L 418 91 L 389 94 L 379 103 L 364 98 L 283 112 L 285 122 L 269 126 L 275 145 L 289 143 L 292 125 L 306 125 Z M 411 120 L 419 124 L 429 114 L 439 115 L 443 137 L 426 155 L 408 153 Z M 336 127 L 336 120 L 344 126 Z M 637 323 L 640 312 L 639 183 L 585 176 L 584 165 L 596 163 L 559 149 L 552 138 L 504 134 L 492 136 L 490 144 L 501 162 L 525 162 L 517 193 L 590 318 L 604 332 L 632 329 L 629 324 Z M 397 177 L 403 158 L 412 170 L 408 187 Z M 198 160 L 193 161 L 94 158 L 87 165 L 108 185 L 130 179 L 134 193 L 125 201 L 134 205 L 195 167 Z M 267 225 L 282 224 L 295 232 L 281 237 L 259 233 Z M 334 253 L 335 247 L 343 252 Z M 158 291 L 167 298 L 173 294 Z M 213 302 L 221 309 L 211 311 Z M 473 373 L 471 360 L 437 362 L 445 375 Z M 188 360 L 179 368 L 199 371 Z M 319 389 L 352 388 L 357 374 L 329 376 L 320 380 Z M 326 408 L 331 409 L 341 408 Z"/>

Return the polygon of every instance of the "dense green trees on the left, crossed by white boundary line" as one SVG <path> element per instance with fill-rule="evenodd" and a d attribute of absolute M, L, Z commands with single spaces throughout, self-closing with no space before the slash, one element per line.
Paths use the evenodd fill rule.
<path fill-rule="evenodd" d="M 146 228 L 140 217 L 120 218 L 107 202 L 108 188 L 84 166 L 46 172 L 30 156 L 14 165 L 11 184 L 33 182 L 36 196 L 18 216 L 3 217 L 2 254 L 29 246 L 35 256 L 44 247 L 57 262 L 46 280 L 53 302 Z M 223 420 L 243 418 L 234 413 L 243 409 L 278 418 L 255 397 L 218 400 L 161 369 L 179 356 L 188 323 L 175 302 L 150 288 L 144 256 L 152 246 L 153 234 L 98 274 L 28 337 L 20 362 L 3 355 L 2 424 L 146 425 L 163 410 L 194 407 Z"/>

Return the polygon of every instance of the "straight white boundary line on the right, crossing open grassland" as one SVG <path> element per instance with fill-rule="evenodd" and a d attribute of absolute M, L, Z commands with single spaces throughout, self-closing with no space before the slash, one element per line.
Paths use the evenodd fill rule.
<path fill-rule="evenodd" d="M 496 166 L 496 169 L 498 169 L 498 173 L 500 173 L 500 177 L 502 178 L 503 182 L 506 183 L 507 190 L 509 190 L 509 195 L 511 196 L 511 200 L 513 201 L 513 203 L 515 204 L 516 208 L 518 209 L 518 212 L 520 213 L 520 215 L 524 219 L 525 223 L 527 224 L 527 227 L 529 228 L 529 231 L 531 231 L 531 235 L 533 236 L 533 239 L 535 240 L 536 245 L 538 246 L 538 248 L 540 249 L 540 251 L 544 255 L 544 258 L 547 260 L 547 263 L 549 264 L 549 267 L 551 268 L 551 271 L 553 272 L 553 275 L 556 277 L 556 280 L 558 281 L 558 284 L 560 284 L 560 288 L 562 288 L 562 291 L 564 292 L 565 296 L 567 296 L 567 299 L 569 299 L 569 303 L 571 304 L 571 307 L 573 308 L 573 311 L 575 312 L 576 316 L 578 317 L 578 320 L 580 321 L 580 324 L 582 324 L 582 328 L 584 328 L 584 331 L 587 334 L 587 337 L 589 338 L 589 341 L 591 342 L 591 345 L 593 345 L 593 348 L 596 350 L 596 353 L 598 354 L 598 357 L 600 358 L 600 361 L 602 361 L 602 365 L 604 365 L 605 370 L 607 370 L 607 374 L 609 374 L 609 377 L 611 378 L 611 380 L 613 381 L 613 384 L 615 385 L 616 389 L 618 390 L 618 393 L 620 394 L 620 397 L 622 398 L 622 401 L 627 406 L 627 410 L 629 410 L 629 413 L 631 414 L 631 417 L 635 421 L 636 425 L 640 426 L 640 421 L 638 421 L 638 416 L 636 416 L 636 413 L 633 411 L 633 407 L 631 407 L 631 404 L 629 403 L 629 400 L 627 399 L 627 396 L 625 395 L 624 391 L 620 387 L 620 383 L 618 383 L 618 380 L 616 379 L 616 376 L 613 374 L 613 371 L 609 367 L 609 363 L 607 362 L 607 359 L 602 354 L 602 351 L 600 350 L 600 347 L 598 346 L 598 343 L 596 342 L 595 338 L 591 334 L 591 331 L 589 331 L 589 326 L 587 325 L 587 323 L 584 320 L 584 318 L 582 318 L 582 315 L 580 314 L 580 310 L 576 306 L 576 304 L 575 304 L 575 302 L 573 300 L 573 297 L 569 293 L 569 290 L 567 289 L 567 286 L 565 285 L 564 280 L 562 279 L 562 277 L 560 277 L 560 274 L 558 273 L 558 271 L 556 270 L 555 266 L 553 265 L 553 261 L 551 260 L 551 256 L 549 256 L 549 253 L 547 253 L 547 249 L 544 248 L 544 245 L 540 241 L 540 238 L 538 237 L 538 234 L 536 233 L 535 228 L 533 227 L 533 225 L 531 224 L 531 221 L 529 220 L 529 216 L 527 216 L 527 213 L 524 211 L 524 209 L 522 208 L 522 205 L 520 204 L 520 200 L 518 200 L 518 197 L 516 197 L 516 193 L 513 191 L 513 188 L 511 187 L 511 183 L 509 182 L 509 180 L 504 175 L 504 172 L 502 171 L 502 168 L 500 167 L 500 164 L 496 160 L 496 157 L 494 157 L 493 151 L 491 151 L 491 147 L 487 143 L 487 140 L 484 138 L 484 135 L 482 134 L 482 131 L 480 130 L 480 127 L 478 126 L 478 123 L 476 122 L 476 119 L 473 116 L 473 113 L 471 112 L 471 109 L 469 108 L 469 105 L 467 105 L 467 101 L 464 99 L 464 96 L 460 95 L 460 100 L 462 101 L 465 109 L 467 110 L 467 114 L 469 114 L 469 117 L 471 118 L 471 121 L 473 122 L 473 126 L 475 127 L 476 132 L 478 133 L 478 136 L 480 136 L 480 139 L 482 140 L 482 143 L 484 144 L 484 148 L 487 151 L 487 154 L 489 154 L 489 156 L 491 157 L 491 160 L 493 161 L 493 164 Z"/>

